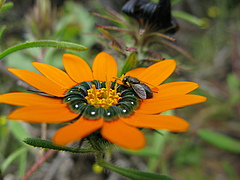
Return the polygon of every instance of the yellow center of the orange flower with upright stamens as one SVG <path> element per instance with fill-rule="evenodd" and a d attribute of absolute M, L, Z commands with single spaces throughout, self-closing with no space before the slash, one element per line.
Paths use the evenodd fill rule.
<path fill-rule="evenodd" d="M 85 97 L 88 103 L 96 108 L 103 107 L 105 109 L 110 106 L 118 104 L 120 93 L 117 92 L 116 86 L 114 89 L 110 88 L 111 82 L 106 82 L 106 88 L 96 89 L 96 86 L 92 84 L 92 88 L 88 89 L 88 95 Z"/>

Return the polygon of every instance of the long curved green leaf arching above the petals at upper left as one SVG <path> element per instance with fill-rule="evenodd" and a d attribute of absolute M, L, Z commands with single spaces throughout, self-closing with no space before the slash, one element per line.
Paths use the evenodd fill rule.
<path fill-rule="evenodd" d="M 26 42 L 26 43 L 22 43 L 22 44 L 10 47 L 0 54 L 0 59 L 4 58 L 5 56 L 13 52 L 16 52 L 22 49 L 33 48 L 33 47 L 54 47 L 59 49 L 69 49 L 69 50 L 75 50 L 75 51 L 87 50 L 86 47 L 76 43 L 64 42 L 64 41 L 53 41 L 53 40 L 41 40 L 41 41 Z"/>

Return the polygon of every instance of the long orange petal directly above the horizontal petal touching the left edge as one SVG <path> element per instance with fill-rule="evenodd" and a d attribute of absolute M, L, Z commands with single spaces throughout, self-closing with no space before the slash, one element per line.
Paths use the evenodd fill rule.
<path fill-rule="evenodd" d="M 17 77 L 30 84 L 31 86 L 53 96 L 64 96 L 67 89 L 59 86 L 50 79 L 32 71 L 24 69 L 8 69 Z"/>

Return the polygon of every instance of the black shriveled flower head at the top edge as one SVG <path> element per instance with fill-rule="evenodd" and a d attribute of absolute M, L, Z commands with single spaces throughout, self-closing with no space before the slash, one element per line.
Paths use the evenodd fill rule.
<path fill-rule="evenodd" d="M 177 21 L 171 15 L 170 0 L 159 0 L 158 3 L 129 0 L 123 5 L 122 11 L 150 31 L 174 34 L 179 29 Z"/>

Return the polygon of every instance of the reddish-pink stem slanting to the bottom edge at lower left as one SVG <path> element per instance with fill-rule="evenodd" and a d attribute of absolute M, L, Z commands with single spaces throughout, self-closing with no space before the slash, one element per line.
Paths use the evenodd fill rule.
<path fill-rule="evenodd" d="M 51 157 L 56 150 L 47 151 L 37 162 L 26 172 L 20 180 L 27 180 L 49 157 Z"/>

